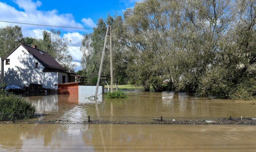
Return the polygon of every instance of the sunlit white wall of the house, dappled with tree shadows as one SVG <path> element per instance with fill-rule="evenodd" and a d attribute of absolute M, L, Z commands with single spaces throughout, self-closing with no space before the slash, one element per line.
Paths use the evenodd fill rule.
<path fill-rule="evenodd" d="M 44 66 L 38 62 L 23 46 L 18 47 L 7 59 L 4 60 L 4 80 L 10 85 L 28 86 L 30 83 L 41 84 L 43 88 L 57 89 L 57 72 L 43 72 Z M 35 63 L 38 68 L 35 68 Z"/>

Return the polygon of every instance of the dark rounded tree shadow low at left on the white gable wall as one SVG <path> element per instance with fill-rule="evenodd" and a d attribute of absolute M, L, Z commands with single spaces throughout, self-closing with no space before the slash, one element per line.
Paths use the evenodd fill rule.
<path fill-rule="evenodd" d="M 24 86 L 22 78 L 18 74 L 17 71 L 15 71 L 13 68 L 8 68 L 8 70 L 5 72 L 4 77 L 5 83 L 8 83 L 9 85 L 17 85 L 17 86 Z"/>

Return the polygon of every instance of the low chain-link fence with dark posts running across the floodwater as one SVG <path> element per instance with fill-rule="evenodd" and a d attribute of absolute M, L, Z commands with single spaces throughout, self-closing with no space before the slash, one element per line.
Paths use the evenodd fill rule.
<path fill-rule="evenodd" d="M 60 114 L 0 114 L 0 124 L 243 124 L 256 125 L 256 118 L 233 117 L 140 117 L 71 116 Z"/>

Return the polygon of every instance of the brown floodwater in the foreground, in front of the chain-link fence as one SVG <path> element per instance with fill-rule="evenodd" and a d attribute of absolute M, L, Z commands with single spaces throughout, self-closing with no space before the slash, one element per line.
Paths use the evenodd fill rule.
<path fill-rule="evenodd" d="M 0 125 L 0 151 L 255 151 L 256 126 Z"/>

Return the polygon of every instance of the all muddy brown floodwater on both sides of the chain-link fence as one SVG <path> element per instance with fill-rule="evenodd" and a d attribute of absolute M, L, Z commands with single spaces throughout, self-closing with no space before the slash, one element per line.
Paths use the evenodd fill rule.
<path fill-rule="evenodd" d="M 129 91 L 127 99 L 25 97 L 37 113 L 78 116 L 255 117 L 256 101 Z M 256 126 L 0 124 L 0 151 L 255 151 Z"/>

